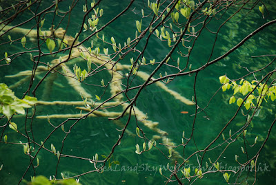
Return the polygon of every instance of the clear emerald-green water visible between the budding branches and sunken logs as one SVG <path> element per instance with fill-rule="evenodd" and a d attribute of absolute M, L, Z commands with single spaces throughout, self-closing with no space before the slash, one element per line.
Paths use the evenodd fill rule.
<path fill-rule="evenodd" d="M 50 3 L 50 2 L 49 2 Z M 59 8 L 61 10 L 67 10 L 70 3 L 68 1 L 63 1 L 59 4 Z M 72 16 L 70 18 L 70 26 L 68 28 L 68 35 L 75 36 L 75 33 L 79 30 L 82 21 L 82 3 L 77 3 L 75 7 L 75 12 L 72 12 Z M 116 1 L 110 3 L 110 1 L 102 1 L 102 8 L 104 10 L 103 17 L 99 21 L 99 25 L 104 25 L 110 20 L 110 17 L 114 17 L 115 14 L 119 13 L 128 5 L 128 1 Z M 144 8 L 146 10 L 146 1 L 135 1 L 135 3 L 130 8 L 133 11 L 128 11 L 121 18 L 117 19 L 114 23 L 110 24 L 103 33 L 106 37 L 106 40 L 109 40 L 111 36 L 115 37 L 117 43 L 124 43 L 126 38 L 130 36 L 132 39 L 135 37 L 135 33 L 132 30 L 136 30 L 135 20 L 140 19 L 141 16 L 140 10 Z M 272 6 L 269 6 L 272 8 Z M 273 8 L 272 8 L 273 9 Z M 231 20 L 224 28 L 221 29 L 219 34 L 219 40 L 215 45 L 215 52 L 211 59 L 224 54 L 226 50 L 233 47 L 241 39 L 244 38 L 249 32 L 252 32 L 256 28 L 258 28 L 263 23 L 266 23 L 268 20 L 272 20 L 275 18 L 275 11 L 271 10 L 270 15 L 267 19 L 262 19 L 259 14 L 257 7 L 253 10 L 255 14 L 248 15 L 246 19 L 242 22 L 237 22 L 240 17 L 237 17 Z M 52 14 L 51 14 L 52 15 Z M 81 16 L 80 16 L 81 15 Z M 46 23 L 44 28 L 50 27 L 51 17 L 46 17 Z M 21 19 L 27 19 L 27 16 L 21 17 Z M 21 21 L 21 19 L 15 20 L 17 23 Z M 49 20 L 50 19 L 50 20 Z M 57 18 L 59 20 L 59 18 Z M 146 19 L 147 21 L 147 19 Z M 144 21 L 144 23 L 146 23 Z M 67 23 L 67 22 L 66 22 Z M 62 28 L 66 27 L 66 23 L 61 25 Z M 221 21 L 216 22 L 215 20 L 208 25 L 209 29 L 216 30 Z M 28 23 L 24 25 L 24 28 L 28 28 L 28 25 L 32 25 L 33 23 Z M 55 23 L 54 23 L 55 24 Z M 204 149 L 216 136 L 219 131 L 224 127 L 226 122 L 230 118 L 233 117 L 235 111 L 237 110 L 236 105 L 228 105 L 228 99 L 230 98 L 230 93 L 222 93 L 221 90 L 216 94 L 216 96 L 210 101 L 213 94 L 219 89 L 221 86 L 219 83 L 219 76 L 227 74 L 229 78 L 235 78 L 236 76 L 242 76 L 242 74 L 246 74 L 246 70 L 239 67 L 242 65 L 244 67 L 248 67 L 250 70 L 254 70 L 255 67 L 263 66 L 268 63 L 272 58 L 250 58 L 248 56 L 257 56 L 258 54 L 274 54 L 275 53 L 275 26 L 272 28 L 268 28 L 257 34 L 246 42 L 239 50 L 230 54 L 225 60 L 220 61 L 218 65 L 213 65 L 210 68 L 206 68 L 204 71 L 199 72 L 196 81 L 196 95 L 197 102 L 199 107 L 203 108 L 208 105 L 204 112 L 202 111 L 197 115 L 197 119 L 195 122 L 195 133 L 194 133 L 194 141 L 191 141 L 185 149 L 185 157 L 191 155 L 198 149 Z M 79 40 L 84 39 L 88 36 L 88 32 L 84 32 L 83 35 L 79 38 Z M 100 34 L 101 35 L 101 34 Z M 12 38 L 16 38 L 16 35 L 11 35 Z M 1 43 L 8 41 L 6 36 L 3 36 L 1 39 Z M 99 39 L 93 37 L 95 47 L 103 47 L 103 44 Z M 197 46 L 190 54 L 190 63 L 193 64 L 193 69 L 203 65 L 207 62 L 207 59 L 210 54 L 210 49 L 213 45 L 215 37 L 210 32 L 204 31 L 197 41 Z M 19 41 L 18 41 L 19 42 Z M 141 45 L 144 41 L 141 41 Z M 29 43 L 32 45 L 32 43 Z M 86 46 L 89 46 L 90 41 Z M 137 48 L 141 49 L 141 45 L 138 45 Z M 9 45 L 3 44 L 1 47 L 1 56 L 3 56 L 4 52 L 6 52 L 8 48 L 8 52 L 14 53 L 18 50 L 22 50 L 20 42 L 18 44 Z M 106 46 L 104 46 L 106 47 Z M 112 48 L 110 48 L 110 51 Z M 161 60 L 166 56 L 168 52 L 168 47 L 166 47 L 166 42 L 160 43 L 157 39 L 151 39 L 149 42 L 149 46 L 145 51 L 145 56 L 147 58 L 155 58 L 156 61 Z M 137 54 L 132 54 L 133 56 L 137 56 Z M 127 56 L 121 63 L 129 64 L 129 58 Z M 176 54 L 172 55 L 172 58 L 176 59 Z M 47 63 L 51 61 L 52 57 L 44 57 L 42 61 Z M 3 62 L 3 61 L 2 61 Z M 186 64 L 186 61 L 183 61 L 181 65 Z M 79 64 L 83 67 L 86 66 L 86 63 Z M 72 69 L 72 65 L 70 66 Z M 183 67 L 183 66 L 181 66 Z M 274 69 L 275 65 L 271 66 L 271 69 Z M 6 75 L 17 74 L 22 70 L 32 69 L 32 62 L 29 60 L 28 55 L 23 55 L 14 60 L 11 65 L 1 66 L 0 70 L 0 79 L 1 83 L 6 83 L 7 85 L 12 85 L 16 83 L 20 78 L 6 78 Z M 152 67 L 141 67 L 141 70 L 144 72 L 152 72 Z M 162 67 L 160 72 L 164 74 L 168 72 L 171 74 L 175 72 L 173 69 L 169 67 Z M 45 74 L 45 73 L 44 73 Z M 55 74 L 52 74 L 55 75 Z M 59 77 L 56 80 L 56 85 L 52 87 L 50 94 L 46 97 L 47 100 L 81 100 L 79 94 L 70 87 L 65 78 L 62 78 L 59 74 Z M 97 85 L 100 84 L 100 80 L 105 78 L 108 81 L 109 74 L 106 72 L 99 73 L 95 78 L 88 79 L 88 83 L 95 83 Z M 264 75 L 264 73 L 257 74 L 259 76 Z M 41 75 L 43 76 L 43 75 Z M 34 79 L 34 85 L 37 85 L 39 82 L 39 78 Z M 192 99 L 194 96 L 193 85 L 194 85 L 195 75 L 193 76 L 183 76 L 180 78 L 175 78 L 169 83 L 168 88 L 177 91 L 181 96 L 185 96 L 188 99 Z M 141 80 L 137 78 L 134 80 L 133 86 L 140 85 L 143 83 Z M 23 92 L 28 88 L 29 82 L 27 81 L 20 87 L 16 89 L 12 89 L 15 91 L 15 94 L 18 97 L 21 97 Z M 61 87 L 62 85 L 63 87 Z M 32 88 L 33 88 L 32 87 Z M 94 95 L 102 93 L 102 89 L 95 86 L 83 85 L 86 90 Z M 39 89 L 37 89 L 37 98 L 39 100 L 43 99 L 42 94 L 43 91 L 46 91 L 45 83 L 43 83 Z M 135 91 L 130 91 L 129 96 L 133 96 Z M 106 94 L 105 98 L 108 98 L 110 94 Z M 45 97 L 44 97 L 45 98 Z M 172 139 L 175 144 L 181 144 L 181 135 L 182 131 L 186 131 L 186 135 L 190 135 L 193 127 L 193 119 L 194 116 L 189 116 L 190 114 L 195 112 L 194 106 L 184 105 L 183 103 L 175 100 L 174 97 L 170 96 L 170 94 L 166 93 L 166 91 L 159 89 L 159 87 L 155 85 L 150 85 L 139 96 L 137 100 L 137 107 L 148 113 L 148 119 L 159 122 L 158 128 L 164 130 L 168 133 L 168 138 Z M 181 114 L 181 111 L 188 111 L 189 114 Z M 56 113 L 79 113 L 79 110 L 75 109 L 74 106 L 66 106 L 66 105 L 55 105 L 55 106 L 37 106 L 37 116 L 39 115 L 51 115 Z M 208 119 L 206 119 L 206 116 Z M 262 109 L 261 113 L 258 117 L 254 118 L 253 123 L 254 127 L 248 128 L 248 142 L 251 144 L 254 142 L 255 136 L 259 135 L 260 142 L 248 149 L 249 153 L 256 153 L 259 147 L 262 145 L 262 138 L 266 137 L 266 131 L 270 126 L 270 123 L 275 119 L 275 104 L 268 102 L 264 103 L 264 109 Z M 54 125 L 58 125 L 63 122 L 65 119 L 51 119 L 50 121 Z M 121 122 L 123 124 L 126 123 L 127 118 L 122 118 Z M 6 120 L 0 120 L 1 125 L 4 124 Z M 25 124 L 25 119 L 23 117 L 14 118 L 14 122 L 17 122 L 19 131 L 25 133 L 23 129 Z M 239 114 L 233 124 L 228 127 L 225 131 L 225 135 L 228 134 L 228 131 L 231 129 L 232 133 L 235 133 L 241 126 L 237 126 L 241 123 L 246 122 L 244 116 Z M 74 121 L 66 122 L 65 130 L 68 130 L 69 127 L 74 123 Z M 30 122 L 28 121 L 28 129 Z M 146 133 L 148 138 L 151 138 L 152 135 L 155 135 L 154 131 L 151 131 L 147 127 L 144 127 L 141 123 L 139 123 L 141 128 Z M 134 118 L 132 118 L 128 130 L 132 133 L 135 133 L 136 123 Z M 110 153 L 110 149 L 113 144 L 117 141 L 118 135 L 120 134 L 117 129 L 121 129 L 121 127 L 114 124 L 112 121 L 107 118 L 86 118 L 85 120 L 79 121 L 75 127 L 73 127 L 71 133 L 66 138 L 64 143 L 63 153 L 67 155 L 73 155 L 84 158 L 92 158 L 95 153 L 99 155 L 108 155 Z M 34 122 L 32 123 L 33 137 L 37 142 L 41 140 L 45 140 L 45 138 L 52 131 L 52 127 L 48 123 L 47 120 L 34 118 Z M 1 132 L 3 132 L 3 128 L 1 128 Z M 273 184 L 275 182 L 275 128 L 273 128 L 272 135 L 270 135 L 270 139 L 268 140 L 267 147 L 262 151 L 259 160 L 259 173 L 257 174 L 257 182 L 256 184 Z M 26 138 L 20 137 L 19 134 L 15 133 L 11 129 L 7 128 L 4 131 L 4 134 L 8 135 L 9 142 L 27 142 Z M 28 133 L 31 135 L 31 133 Z M 61 141 L 65 137 L 65 133 L 58 129 L 51 135 L 49 140 L 46 142 L 46 148 L 50 149 L 50 144 L 54 144 L 55 148 L 59 150 L 61 148 Z M 157 140 L 157 143 L 161 142 L 161 140 Z M 215 144 L 219 144 L 222 142 L 218 140 Z M 114 153 L 114 159 L 120 162 L 120 165 L 113 165 L 111 169 L 107 169 L 105 173 L 89 173 L 87 175 L 83 175 L 80 177 L 81 184 L 164 184 L 166 180 L 159 174 L 159 168 L 163 168 L 164 175 L 170 175 L 169 171 L 166 170 L 166 165 L 172 167 L 174 162 L 171 160 L 166 160 L 166 157 L 160 154 L 157 149 L 152 149 L 147 153 L 143 153 L 142 155 L 137 155 L 135 153 L 135 145 L 139 143 L 140 147 L 143 143 L 143 140 L 137 138 L 137 136 L 125 135 L 124 139 L 121 141 L 121 144 L 117 146 Z M 237 141 L 232 144 L 221 156 L 219 162 L 222 162 L 222 166 L 225 168 L 235 168 L 238 166 L 235 163 L 235 154 L 239 155 L 239 160 L 246 160 L 246 157 L 242 154 L 240 150 L 240 146 L 242 146 L 242 141 Z M 168 155 L 168 149 L 160 146 L 162 152 Z M 212 160 L 217 159 L 218 155 L 222 152 L 224 148 L 217 148 L 213 151 L 210 151 L 204 157 L 204 164 L 208 161 L 208 157 Z M 179 153 L 183 153 L 181 147 L 177 148 Z M 27 155 L 23 155 L 23 147 L 21 144 L 3 144 L 0 146 L 0 164 L 3 164 L 3 169 L 0 171 L 0 184 L 17 184 L 19 179 L 26 171 L 26 168 L 30 162 L 30 158 Z M 243 157 L 244 156 L 244 157 Z M 55 175 L 55 171 L 57 168 L 57 156 L 49 153 L 48 151 L 41 150 L 38 154 L 40 164 L 39 167 L 35 169 L 36 175 L 45 175 L 46 177 Z M 251 156 L 252 157 L 252 156 Z M 100 157 L 100 159 L 103 159 Z M 181 162 L 181 161 L 180 161 Z M 34 162 L 35 164 L 35 162 Z M 210 164 L 210 163 L 209 163 Z M 190 168 L 197 167 L 197 157 L 194 156 L 190 159 L 188 163 Z M 227 166 L 226 166 L 227 165 Z M 268 166 L 265 170 L 264 166 Z M 61 161 L 58 164 L 57 168 L 57 178 L 61 178 L 60 173 L 62 172 L 66 177 L 72 177 L 75 175 L 79 175 L 81 173 L 86 173 L 88 171 L 92 171 L 94 169 L 93 165 L 90 164 L 87 160 L 81 160 L 74 157 L 61 157 Z M 30 176 L 33 176 L 32 167 L 28 171 L 25 176 L 25 179 L 30 181 Z M 242 173 L 242 177 L 246 177 L 247 173 Z M 231 177 L 236 177 L 236 175 L 232 174 Z M 244 178 L 241 178 L 244 179 Z M 250 172 L 248 174 L 248 182 L 253 183 L 254 173 Z M 188 184 L 188 181 L 185 183 Z M 176 184 L 176 182 L 175 182 Z M 202 179 L 197 180 L 194 184 L 226 184 L 224 178 L 220 173 L 207 174 L 204 175 Z"/>

